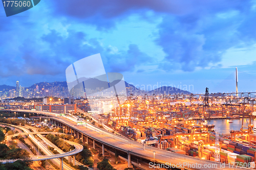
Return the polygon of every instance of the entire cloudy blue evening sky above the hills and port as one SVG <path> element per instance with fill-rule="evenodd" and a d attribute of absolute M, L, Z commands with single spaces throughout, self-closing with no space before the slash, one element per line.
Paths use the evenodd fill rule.
<path fill-rule="evenodd" d="M 256 91 L 256 1 L 41 0 L 6 17 L 0 5 L 0 85 L 66 81 L 100 53 L 106 72 L 141 89 Z"/>

